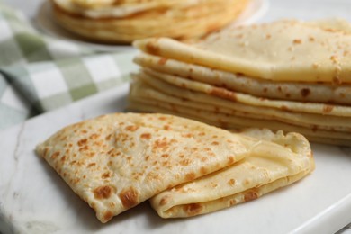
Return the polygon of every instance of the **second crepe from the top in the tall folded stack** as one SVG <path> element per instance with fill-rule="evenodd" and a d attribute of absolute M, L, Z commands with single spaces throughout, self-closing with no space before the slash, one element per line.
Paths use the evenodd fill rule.
<path fill-rule="evenodd" d="M 232 91 L 271 99 L 313 103 L 351 103 L 351 85 L 279 82 L 256 79 L 238 74 L 140 53 L 134 62 L 168 75 L 181 76 Z"/>

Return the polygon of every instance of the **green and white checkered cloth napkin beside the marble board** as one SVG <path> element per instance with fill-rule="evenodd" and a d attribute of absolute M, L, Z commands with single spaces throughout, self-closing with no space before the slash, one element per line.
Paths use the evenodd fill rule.
<path fill-rule="evenodd" d="M 0 1 L 0 130 L 126 82 L 134 54 L 49 38 Z"/>

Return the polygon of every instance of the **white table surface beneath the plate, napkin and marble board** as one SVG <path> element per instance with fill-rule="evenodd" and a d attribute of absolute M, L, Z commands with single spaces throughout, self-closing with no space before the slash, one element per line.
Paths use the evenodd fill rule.
<path fill-rule="evenodd" d="M 4 0 L 5 3 L 22 10 L 23 13 L 28 15 L 31 19 L 34 18 L 42 1 L 43 0 Z M 326 17 L 342 17 L 351 22 L 350 13 L 350 0 L 270 0 L 266 14 L 257 21 L 271 22 L 278 19 L 292 18 L 310 20 Z M 338 233 L 350 234 L 351 225 L 347 225 L 346 228 L 341 229 Z"/>

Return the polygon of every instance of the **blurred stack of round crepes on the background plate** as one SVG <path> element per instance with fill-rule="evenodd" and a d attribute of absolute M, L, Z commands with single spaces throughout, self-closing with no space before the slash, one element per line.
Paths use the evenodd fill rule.
<path fill-rule="evenodd" d="M 103 42 L 147 37 L 188 40 L 232 23 L 248 0 L 51 0 L 57 22 Z"/>

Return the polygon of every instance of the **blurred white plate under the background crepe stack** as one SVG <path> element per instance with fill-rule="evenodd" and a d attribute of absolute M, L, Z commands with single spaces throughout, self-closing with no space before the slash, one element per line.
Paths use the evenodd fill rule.
<path fill-rule="evenodd" d="M 252 0 L 248 4 L 247 9 L 242 14 L 240 14 L 235 24 L 255 22 L 266 13 L 267 8 L 267 0 Z M 38 14 L 36 14 L 36 17 L 34 19 L 34 25 L 37 26 L 40 31 L 43 31 L 50 36 L 63 40 L 70 40 L 79 43 L 80 45 L 87 46 L 90 49 L 94 49 L 95 51 L 120 51 L 130 49 L 130 46 L 128 45 L 108 45 L 91 42 L 85 40 L 84 38 L 76 36 L 70 31 L 66 31 L 65 29 L 61 28 L 53 19 L 51 4 L 49 1 L 45 1 L 41 4 Z"/>

